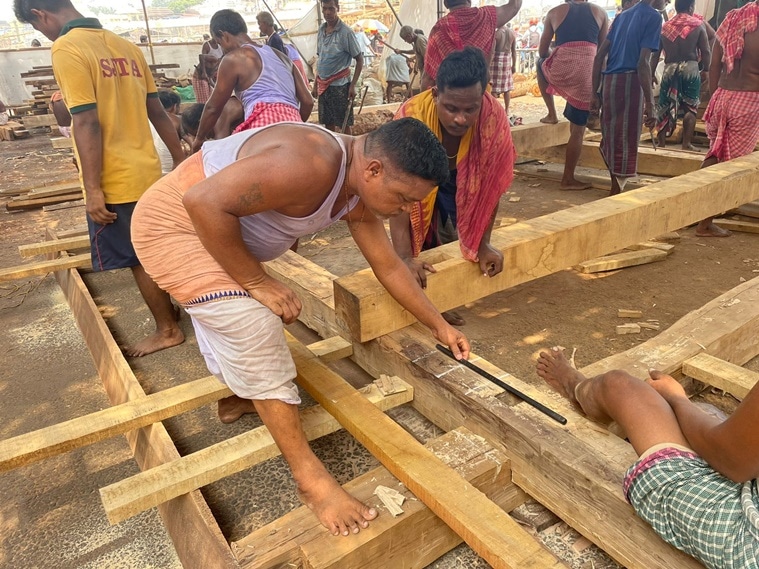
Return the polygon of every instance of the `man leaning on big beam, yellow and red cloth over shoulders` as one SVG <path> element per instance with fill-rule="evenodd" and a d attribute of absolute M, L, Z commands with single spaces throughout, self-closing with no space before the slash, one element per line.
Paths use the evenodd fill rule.
<path fill-rule="evenodd" d="M 422 287 L 425 271 L 416 257 L 422 250 L 459 240 L 465 259 L 479 263 L 483 275 L 503 270 L 503 255 L 490 245 L 498 200 L 514 179 L 516 155 L 506 112 L 490 93 L 488 67 L 474 47 L 445 58 L 437 85 L 412 97 L 397 117 L 414 117 L 442 142 L 450 180 L 435 188 L 409 212 L 390 220 L 393 247 Z M 463 324 L 453 313 L 452 324 Z"/>

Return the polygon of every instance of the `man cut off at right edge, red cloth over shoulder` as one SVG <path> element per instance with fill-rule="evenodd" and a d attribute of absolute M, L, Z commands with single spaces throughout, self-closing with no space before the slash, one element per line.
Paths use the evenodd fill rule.
<path fill-rule="evenodd" d="M 729 12 L 717 30 L 709 67 L 712 96 L 704 114 L 709 152 L 702 168 L 751 154 L 759 142 L 759 3 Z M 728 237 L 730 232 L 707 217 L 699 237 Z"/>

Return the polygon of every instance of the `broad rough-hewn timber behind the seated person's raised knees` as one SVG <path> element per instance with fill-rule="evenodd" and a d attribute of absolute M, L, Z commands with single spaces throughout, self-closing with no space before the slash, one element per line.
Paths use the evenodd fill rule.
<path fill-rule="evenodd" d="M 644 379 L 649 369 L 682 376 L 682 364 L 701 352 L 742 365 L 759 355 L 759 277 L 694 310 L 657 336 L 580 371 L 594 376 L 621 369 Z"/>

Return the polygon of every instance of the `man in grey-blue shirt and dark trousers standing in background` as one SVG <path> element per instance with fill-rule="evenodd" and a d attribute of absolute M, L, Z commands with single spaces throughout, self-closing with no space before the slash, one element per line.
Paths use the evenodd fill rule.
<path fill-rule="evenodd" d="M 346 134 L 353 126 L 353 99 L 356 97 L 356 82 L 364 67 L 364 56 L 353 31 L 338 17 L 339 0 L 321 0 L 324 23 L 317 36 L 317 73 L 314 81 L 314 97 L 319 98 L 319 122 L 327 129 L 336 131 L 343 123 L 348 126 Z M 356 61 L 353 78 L 350 66 Z M 348 117 L 347 122 L 345 117 Z"/>

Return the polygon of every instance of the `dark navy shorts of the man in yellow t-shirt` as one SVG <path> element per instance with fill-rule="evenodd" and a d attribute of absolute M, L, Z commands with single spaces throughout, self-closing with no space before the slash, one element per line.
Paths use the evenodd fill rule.
<path fill-rule="evenodd" d="M 140 264 L 132 247 L 132 213 L 137 202 L 105 204 L 108 211 L 117 215 L 116 221 L 100 225 L 87 216 L 90 232 L 90 251 L 93 271 L 125 269 Z"/>

